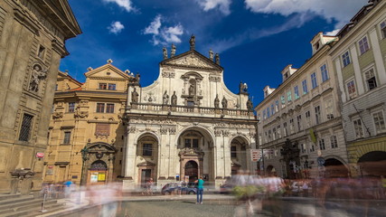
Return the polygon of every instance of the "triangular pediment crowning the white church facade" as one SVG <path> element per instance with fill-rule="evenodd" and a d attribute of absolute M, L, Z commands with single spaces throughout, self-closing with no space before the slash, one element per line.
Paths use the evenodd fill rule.
<path fill-rule="evenodd" d="M 161 65 L 222 71 L 222 67 L 220 65 L 196 51 L 184 52 L 172 58 L 166 59 L 165 61 L 161 61 Z"/>

